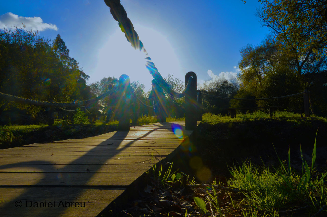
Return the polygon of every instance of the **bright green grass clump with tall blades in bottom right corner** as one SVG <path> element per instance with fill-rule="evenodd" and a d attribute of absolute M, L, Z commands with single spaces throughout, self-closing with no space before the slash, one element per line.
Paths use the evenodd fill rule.
<path fill-rule="evenodd" d="M 316 135 L 317 137 L 317 135 Z M 249 214 L 254 210 L 269 216 L 278 216 L 280 209 L 289 205 L 308 206 L 307 209 L 317 211 L 327 203 L 324 182 L 327 172 L 315 175 L 314 164 L 316 159 L 316 139 L 312 152 L 311 168 L 303 159 L 302 150 L 302 173 L 294 172 L 291 168 L 291 156 L 288 149 L 287 163 L 277 156 L 280 167 L 274 168 L 274 172 L 268 167 L 258 167 L 250 163 L 243 163 L 242 166 L 234 166 L 231 169 L 232 177 L 227 181 L 229 186 L 242 190 L 250 204 Z M 250 211 L 252 210 L 252 211 Z M 244 210 L 244 216 L 248 216 Z"/>

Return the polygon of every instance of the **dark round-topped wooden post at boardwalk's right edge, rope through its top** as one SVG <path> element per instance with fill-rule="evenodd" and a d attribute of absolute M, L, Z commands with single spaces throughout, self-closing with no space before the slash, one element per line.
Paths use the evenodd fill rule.
<path fill-rule="evenodd" d="M 185 75 L 185 86 L 189 77 L 192 77 L 191 86 L 186 90 L 185 94 L 185 129 L 197 129 L 197 75 L 193 71 L 189 71 Z"/>

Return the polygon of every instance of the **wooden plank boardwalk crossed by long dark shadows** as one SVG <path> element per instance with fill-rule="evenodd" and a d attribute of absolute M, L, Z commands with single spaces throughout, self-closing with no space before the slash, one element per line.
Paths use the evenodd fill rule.
<path fill-rule="evenodd" d="M 130 194 L 130 184 L 158 162 L 151 155 L 167 157 L 193 132 L 184 126 L 154 123 L 0 150 L 0 215 L 96 216 Z"/>

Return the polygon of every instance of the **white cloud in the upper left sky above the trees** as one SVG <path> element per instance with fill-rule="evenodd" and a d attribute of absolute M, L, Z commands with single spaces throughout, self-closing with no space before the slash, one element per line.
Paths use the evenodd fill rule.
<path fill-rule="evenodd" d="M 23 17 L 11 12 L 2 14 L 0 16 L 0 28 L 10 28 L 14 26 L 23 27 L 22 22 L 26 26 L 27 30 L 38 30 L 39 32 L 47 29 L 53 29 L 56 31 L 58 30 L 58 27 L 55 24 L 43 23 L 41 17 Z"/>

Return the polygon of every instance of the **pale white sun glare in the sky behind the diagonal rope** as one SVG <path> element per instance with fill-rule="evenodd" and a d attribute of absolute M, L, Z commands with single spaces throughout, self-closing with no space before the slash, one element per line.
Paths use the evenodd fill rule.
<path fill-rule="evenodd" d="M 149 27 L 135 25 L 135 30 L 161 75 L 166 77 L 173 74 L 183 78 L 183 75 L 180 76 L 182 72 L 178 58 L 167 38 Z M 134 50 L 124 33 L 118 29 L 99 50 L 94 73 L 98 76 L 96 80 L 109 76 L 119 78 L 120 75 L 127 74 L 131 82 L 139 81 L 146 86 L 145 91 L 148 91 L 151 89 L 152 76 L 145 66 L 146 57 L 143 50 Z"/>

